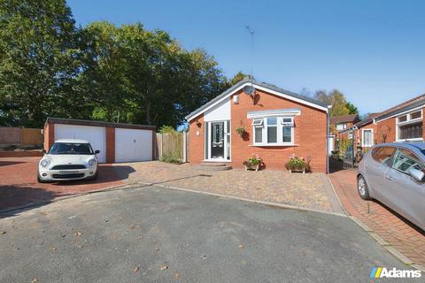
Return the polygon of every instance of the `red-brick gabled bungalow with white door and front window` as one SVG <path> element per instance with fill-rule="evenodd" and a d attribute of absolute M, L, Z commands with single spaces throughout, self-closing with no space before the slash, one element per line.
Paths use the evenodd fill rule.
<path fill-rule="evenodd" d="M 186 119 L 191 164 L 237 168 L 258 155 L 267 169 L 285 169 L 295 154 L 311 157 L 312 172 L 328 171 L 328 105 L 311 97 L 245 79 Z"/>

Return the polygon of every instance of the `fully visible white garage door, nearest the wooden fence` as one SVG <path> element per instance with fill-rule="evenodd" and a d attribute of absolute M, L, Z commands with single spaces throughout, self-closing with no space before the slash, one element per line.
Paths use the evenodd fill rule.
<path fill-rule="evenodd" d="M 152 131 L 115 129 L 115 162 L 152 160 Z"/>

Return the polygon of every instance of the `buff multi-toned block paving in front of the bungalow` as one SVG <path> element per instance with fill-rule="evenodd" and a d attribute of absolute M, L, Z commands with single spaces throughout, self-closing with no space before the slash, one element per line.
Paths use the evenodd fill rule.
<path fill-rule="evenodd" d="M 144 182 L 269 203 L 282 203 L 327 212 L 344 213 L 328 178 L 320 173 L 293 173 L 274 170 L 195 171 L 190 164 L 158 161 L 116 164 L 135 170 L 128 182 Z"/>

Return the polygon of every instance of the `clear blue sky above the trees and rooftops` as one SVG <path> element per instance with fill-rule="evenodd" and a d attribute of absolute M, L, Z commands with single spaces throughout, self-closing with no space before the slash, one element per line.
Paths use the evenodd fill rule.
<path fill-rule="evenodd" d="M 67 0 L 77 24 L 166 30 L 230 78 L 312 95 L 338 89 L 360 114 L 425 93 L 425 1 Z M 246 26 L 254 30 L 253 44 Z"/>

